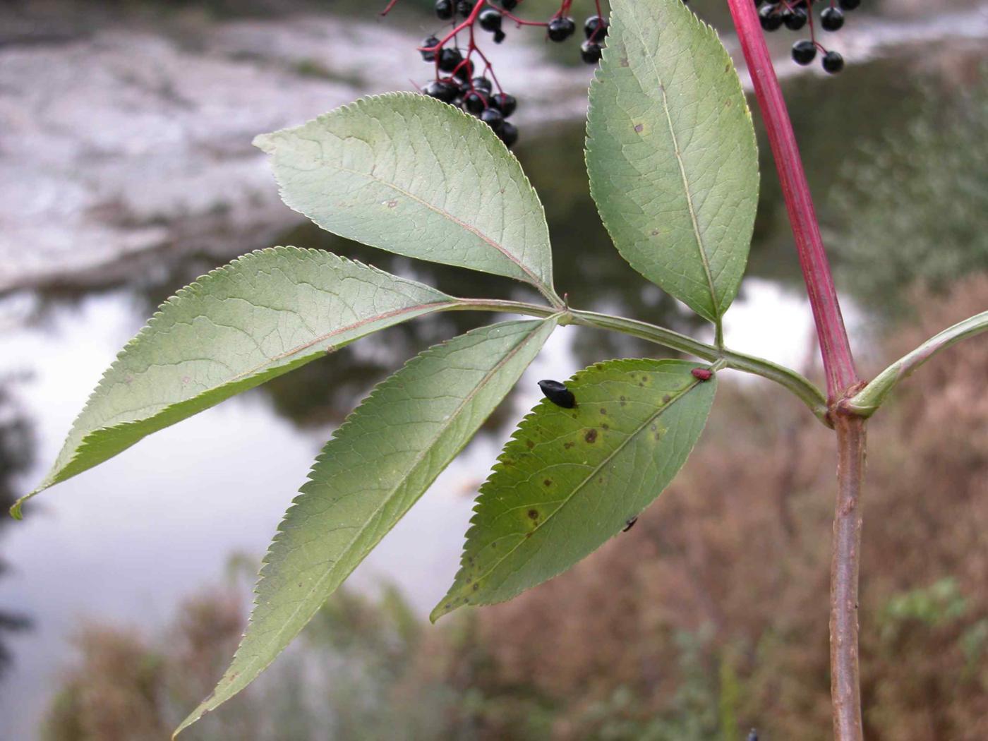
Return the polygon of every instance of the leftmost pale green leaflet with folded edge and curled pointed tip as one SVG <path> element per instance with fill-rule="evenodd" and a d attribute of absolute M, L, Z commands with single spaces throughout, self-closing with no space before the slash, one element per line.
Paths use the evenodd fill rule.
<path fill-rule="evenodd" d="M 163 303 L 103 376 L 35 491 L 365 335 L 454 305 L 435 288 L 328 252 L 275 247 Z"/>

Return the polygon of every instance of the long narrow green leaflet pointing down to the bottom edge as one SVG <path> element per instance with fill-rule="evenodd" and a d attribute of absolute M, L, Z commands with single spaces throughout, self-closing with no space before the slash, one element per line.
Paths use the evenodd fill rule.
<path fill-rule="evenodd" d="M 553 317 L 473 330 L 373 390 L 316 458 L 265 558 L 233 663 L 176 734 L 281 653 L 462 450 L 555 326 Z"/>

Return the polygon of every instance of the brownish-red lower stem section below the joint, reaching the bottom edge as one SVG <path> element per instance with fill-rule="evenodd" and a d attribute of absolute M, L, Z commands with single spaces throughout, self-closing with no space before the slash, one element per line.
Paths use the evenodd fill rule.
<path fill-rule="evenodd" d="M 830 563 L 830 698 L 834 738 L 863 741 L 858 661 L 858 573 L 861 563 L 861 488 L 864 418 L 838 413 L 837 505 Z"/>

